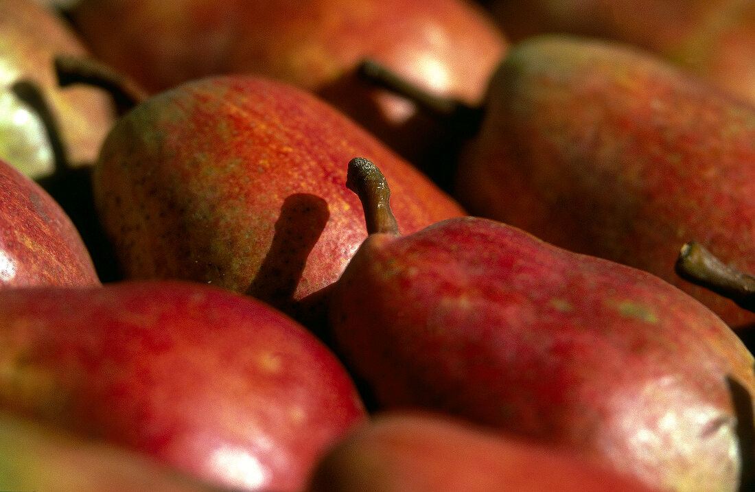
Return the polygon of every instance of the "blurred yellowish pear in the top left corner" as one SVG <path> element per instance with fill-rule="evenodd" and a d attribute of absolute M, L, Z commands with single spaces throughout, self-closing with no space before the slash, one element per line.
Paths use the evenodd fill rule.
<path fill-rule="evenodd" d="M 33 0 L 0 2 L 0 158 L 32 178 L 54 171 L 54 151 L 45 128 L 11 91 L 19 80 L 45 93 L 60 123 L 73 165 L 94 161 L 113 122 L 107 96 L 91 88 L 60 89 L 53 69 L 57 54 L 87 55 L 71 26 Z"/>

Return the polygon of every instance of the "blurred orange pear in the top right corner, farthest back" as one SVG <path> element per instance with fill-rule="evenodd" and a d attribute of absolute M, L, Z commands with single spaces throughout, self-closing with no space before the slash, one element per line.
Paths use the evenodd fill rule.
<path fill-rule="evenodd" d="M 749 0 L 493 0 L 490 4 L 492 17 L 516 41 L 562 32 L 626 42 L 755 102 L 755 3 Z"/>

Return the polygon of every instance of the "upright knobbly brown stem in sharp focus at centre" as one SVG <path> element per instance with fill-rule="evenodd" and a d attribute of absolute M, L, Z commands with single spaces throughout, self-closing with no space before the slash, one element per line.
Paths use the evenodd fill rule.
<path fill-rule="evenodd" d="M 372 161 L 355 157 L 349 161 L 346 186 L 359 196 L 365 211 L 368 234 L 399 235 L 399 226 L 390 210 L 390 188 L 385 176 Z"/>

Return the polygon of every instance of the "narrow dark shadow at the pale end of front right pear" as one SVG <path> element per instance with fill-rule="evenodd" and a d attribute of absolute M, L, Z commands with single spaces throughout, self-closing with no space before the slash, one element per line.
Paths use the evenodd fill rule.
<path fill-rule="evenodd" d="M 726 377 L 732 405 L 737 416 L 737 439 L 739 444 L 739 492 L 755 490 L 755 414 L 753 398 L 747 388 L 732 376 Z"/>

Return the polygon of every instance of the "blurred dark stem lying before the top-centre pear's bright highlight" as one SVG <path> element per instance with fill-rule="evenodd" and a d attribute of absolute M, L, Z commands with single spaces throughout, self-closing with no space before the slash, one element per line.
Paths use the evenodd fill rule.
<path fill-rule="evenodd" d="M 482 123 L 482 107 L 470 106 L 452 97 L 430 94 L 412 84 L 377 60 L 365 59 L 357 67 L 357 74 L 372 85 L 405 97 L 422 111 L 463 134 L 476 134 Z"/>

